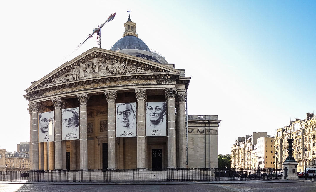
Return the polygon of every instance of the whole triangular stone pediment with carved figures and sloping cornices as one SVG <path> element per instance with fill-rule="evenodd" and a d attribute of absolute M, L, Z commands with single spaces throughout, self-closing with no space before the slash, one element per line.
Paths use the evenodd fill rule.
<path fill-rule="evenodd" d="M 116 51 L 92 48 L 34 82 L 26 91 L 90 79 L 148 74 L 180 75 L 180 70 Z"/>

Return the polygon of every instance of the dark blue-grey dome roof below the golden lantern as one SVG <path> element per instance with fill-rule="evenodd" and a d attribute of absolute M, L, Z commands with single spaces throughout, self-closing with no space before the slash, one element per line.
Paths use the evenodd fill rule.
<path fill-rule="evenodd" d="M 142 41 L 142 39 L 133 35 L 127 35 L 121 38 L 112 46 L 110 50 L 117 51 L 122 49 L 140 49 L 150 52 L 149 47 Z"/>

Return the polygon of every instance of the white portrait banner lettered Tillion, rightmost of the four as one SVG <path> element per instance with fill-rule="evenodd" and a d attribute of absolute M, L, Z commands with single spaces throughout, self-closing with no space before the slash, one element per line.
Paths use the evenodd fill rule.
<path fill-rule="evenodd" d="M 146 136 L 167 136 L 166 102 L 146 102 Z"/>

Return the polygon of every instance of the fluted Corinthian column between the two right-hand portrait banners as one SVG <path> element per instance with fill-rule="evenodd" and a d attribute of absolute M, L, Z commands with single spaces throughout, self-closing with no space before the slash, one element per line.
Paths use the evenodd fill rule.
<path fill-rule="evenodd" d="M 146 89 L 136 89 L 137 97 L 137 169 L 146 169 L 145 99 Z"/>

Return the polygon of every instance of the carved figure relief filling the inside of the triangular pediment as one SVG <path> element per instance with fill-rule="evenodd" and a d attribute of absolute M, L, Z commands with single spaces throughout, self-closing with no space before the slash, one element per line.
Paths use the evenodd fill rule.
<path fill-rule="evenodd" d="M 93 77 L 152 72 L 153 71 L 144 67 L 136 67 L 125 62 L 117 61 L 116 59 L 98 58 L 94 55 L 94 59 L 79 63 L 79 65 L 72 67 L 67 73 L 53 79 L 51 82 L 44 82 L 36 88 Z"/>

